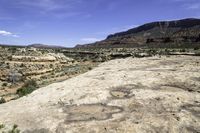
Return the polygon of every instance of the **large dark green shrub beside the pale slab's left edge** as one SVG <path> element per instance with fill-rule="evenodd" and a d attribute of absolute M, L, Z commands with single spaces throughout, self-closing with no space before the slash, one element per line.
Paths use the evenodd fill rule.
<path fill-rule="evenodd" d="M 22 97 L 32 93 L 38 88 L 37 82 L 35 80 L 27 81 L 20 89 L 17 90 L 17 94 Z"/>

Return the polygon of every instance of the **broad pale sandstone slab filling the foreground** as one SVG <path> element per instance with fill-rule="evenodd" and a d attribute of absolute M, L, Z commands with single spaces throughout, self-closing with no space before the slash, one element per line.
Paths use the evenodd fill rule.
<path fill-rule="evenodd" d="M 25 133 L 197 133 L 200 57 L 112 60 L 1 104 L 0 123 Z"/>

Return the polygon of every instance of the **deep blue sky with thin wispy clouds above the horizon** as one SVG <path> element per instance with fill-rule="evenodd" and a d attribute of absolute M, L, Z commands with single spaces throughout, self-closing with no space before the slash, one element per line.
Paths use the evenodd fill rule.
<path fill-rule="evenodd" d="M 0 43 L 72 47 L 188 17 L 200 18 L 200 0 L 0 0 Z"/>

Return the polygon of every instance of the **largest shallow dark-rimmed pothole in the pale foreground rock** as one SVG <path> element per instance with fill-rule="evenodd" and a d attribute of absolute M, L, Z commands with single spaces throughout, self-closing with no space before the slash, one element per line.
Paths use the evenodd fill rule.
<path fill-rule="evenodd" d="M 79 122 L 91 120 L 107 120 L 111 119 L 113 114 L 122 112 L 123 109 L 117 106 L 109 106 L 104 104 L 83 104 L 73 105 L 64 108 L 64 112 L 68 114 L 65 122 Z"/>

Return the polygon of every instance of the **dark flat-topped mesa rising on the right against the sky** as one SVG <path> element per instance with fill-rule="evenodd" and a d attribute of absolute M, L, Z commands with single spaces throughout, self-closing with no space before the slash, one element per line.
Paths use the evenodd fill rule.
<path fill-rule="evenodd" d="M 109 35 L 84 47 L 195 47 L 200 43 L 200 19 L 158 21 Z"/>

